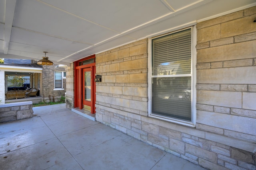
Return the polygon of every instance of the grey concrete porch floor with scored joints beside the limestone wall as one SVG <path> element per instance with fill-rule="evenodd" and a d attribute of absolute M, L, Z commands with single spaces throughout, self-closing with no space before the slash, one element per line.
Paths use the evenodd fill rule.
<path fill-rule="evenodd" d="M 34 117 L 0 123 L 1 170 L 203 170 L 66 109 L 34 107 Z"/>

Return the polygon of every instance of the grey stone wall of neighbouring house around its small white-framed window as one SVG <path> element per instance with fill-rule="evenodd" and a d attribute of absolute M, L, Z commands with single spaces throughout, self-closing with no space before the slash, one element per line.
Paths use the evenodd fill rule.
<path fill-rule="evenodd" d="M 65 71 L 63 67 L 55 67 L 57 64 L 53 64 L 52 66 L 43 66 L 42 70 L 42 97 L 45 102 L 49 102 L 49 95 L 51 99 L 54 96 L 55 102 L 61 98 L 61 96 L 65 96 L 66 92 L 66 79 L 63 79 L 63 88 L 64 90 L 54 90 L 54 71 Z"/>

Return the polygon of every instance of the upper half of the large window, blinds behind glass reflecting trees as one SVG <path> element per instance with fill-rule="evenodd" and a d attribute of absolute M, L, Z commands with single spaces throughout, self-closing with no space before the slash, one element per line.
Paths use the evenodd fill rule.
<path fill-rule="evenodd" d="M 173 75 L 191 72 L 191 30 L 152 40 L 152 74 Z"/>

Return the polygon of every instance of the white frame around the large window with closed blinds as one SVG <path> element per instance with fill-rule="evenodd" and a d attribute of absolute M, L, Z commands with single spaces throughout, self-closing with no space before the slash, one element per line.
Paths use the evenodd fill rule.
<path fill-rule="evenodd" d="M 156 39 L 158 37 L 163 37 L 165 35 L 169 35 L 172 33 L 177 33 L 180 31 L 183 31 L 185 29 L 191 29 L 191 121 L 183 121 L 180 119 L 175 119 L 171 117 L 166 117 L 163 115 L 156 115 L 152 113 L 152 39 Z M 169 121 L 173 123 L 178 123 L 181 125 L 186 125 L 190 127 L 195 127 L 196 126 L 196 26 L 180 29 L 177 31 L 173 31 L 171 33 L 167 33 L 164 35 L 159 35 L 157 37 L 152 37 L 148 39 L 148 97 L 149 97 L 149 102 L 148 102 L 148 117 L 153 117 L 156 119 L 161 119 L 164 121 Z"/>

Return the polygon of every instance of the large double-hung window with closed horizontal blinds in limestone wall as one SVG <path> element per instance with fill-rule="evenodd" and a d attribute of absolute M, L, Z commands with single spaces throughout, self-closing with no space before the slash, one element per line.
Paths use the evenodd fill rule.
<path fill-rule="evenodd" d="M 151 41 L 150 116 L 194 125 L 192 27 Z"/>

